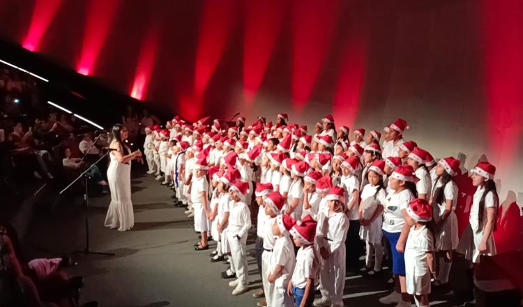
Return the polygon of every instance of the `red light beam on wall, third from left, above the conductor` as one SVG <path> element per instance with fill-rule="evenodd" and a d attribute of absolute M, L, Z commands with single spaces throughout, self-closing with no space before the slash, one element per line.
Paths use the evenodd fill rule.
<path fill-rule="evenodd" d="M 159 45 L 159 28 L 157 24 L 154 24 L 149 29 L 142 43 L 142 49 L 140 50 L 135 73 L 135 80 L 132 82 L 132 89 L 130 91 L 130 96 L 132 98 L 138 100 L 143 100 L 145 98 L 147 86 L 149 85 L 149 80 L 151 80 L 151 74 L 153 73 L 156 52 L 158 52 Z"/>

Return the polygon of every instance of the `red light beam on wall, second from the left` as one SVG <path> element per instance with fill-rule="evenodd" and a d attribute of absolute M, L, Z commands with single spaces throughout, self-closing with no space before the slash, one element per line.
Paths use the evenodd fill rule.
<path fill-rule="evenodd" d="M 105 36 L 109 31 L 109 25 L 114 20 L 119 2 L 119 0 L 91 0 L 89 2 L 82 54 L 76 68 L 78 73 L 93 74 L 96 59 L 98 59 Z"/>

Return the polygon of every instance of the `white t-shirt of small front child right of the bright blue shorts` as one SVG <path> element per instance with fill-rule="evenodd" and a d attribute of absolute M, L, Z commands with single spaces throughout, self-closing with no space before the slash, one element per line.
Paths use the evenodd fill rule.
<path fill-rule="evenodd" d="M 427 253 L 432 252 L 434 237 L 425 225 L 418 230 L 414 227 L 411 227 L 405 244 L 405 267 L 414 268 L 415 276 L 425 276 L 430 274 Z"/>

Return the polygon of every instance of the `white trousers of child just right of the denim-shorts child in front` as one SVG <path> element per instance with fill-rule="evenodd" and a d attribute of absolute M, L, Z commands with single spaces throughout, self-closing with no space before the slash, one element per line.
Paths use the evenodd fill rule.
<path fill-rule="evenodd" d="M 320 256 L 321 257 L 321 256 Z M 340 245 L 328 259 L 321 258 L 320 292 L 333 306 L 343 306 L 345 287 L 345 246 Z"/>

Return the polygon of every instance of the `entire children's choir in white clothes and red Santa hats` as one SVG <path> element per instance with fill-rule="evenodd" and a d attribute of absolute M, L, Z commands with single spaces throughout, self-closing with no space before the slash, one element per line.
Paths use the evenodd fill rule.
<path fill-rule="evenodd" d="M 187 207 L 199 232 L 195 250 L 216 242 L 211 262 L 229 264 L 222 278 L 230 279 L 233 295 L 248 290 L 252 224 L 263 285 L 253 296 L 264 297 L 258 306 L 343 306 L 346 271 L 379 274 L 384 255 L 395 285 L 379 301 L 429 306 L 431 285 L 449 281 L 454 251 L 473 263 L 495 255 L 499 199 L 490 163 L 471 170 L 477 191 L 458 240 L 460 161 L 436 162 L 404 140 L 404 119 L 383 133 L 358 128 L 352 140 L 349 127 L 336 129 L 332 115 L 310 135 L 307 126 L 287 121 L 278 114 L 274 125 L 259 117 L 246 126 L 241 117 L 230 126 L 174 117 L 165 128 L 146 128 L 148 173 L 175 190 L 177 206 Z M 316 290 L 321 296 L 314 299 Z"/>

